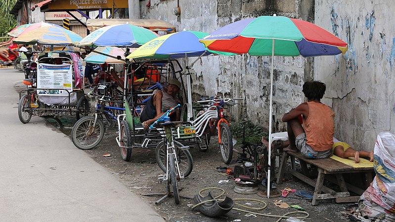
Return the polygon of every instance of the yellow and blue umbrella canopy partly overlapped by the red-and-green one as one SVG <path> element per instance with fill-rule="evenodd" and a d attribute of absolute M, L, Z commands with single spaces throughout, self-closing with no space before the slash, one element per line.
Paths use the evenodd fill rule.
<path fill-rule="evenodd" d="M 208 33 L 182 31 L 154 38 L 141 45 L 128 59 L 176 59 L 210 55 L 199 39 Z"/>

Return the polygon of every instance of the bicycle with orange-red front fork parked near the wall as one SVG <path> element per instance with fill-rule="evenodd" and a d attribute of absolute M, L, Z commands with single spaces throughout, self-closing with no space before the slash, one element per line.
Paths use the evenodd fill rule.
<path fill-rule="evenodd" d="M 203 104 L 203 112 L 192 121 L 197 137 L 205 139 L 205 146 L 199 146 L 201 151 L 207 151 L 212 135 L 218 134 L 218 143 L 221 150 L 222 160 L 225 164 L 232 161 L 233 139 L 229 123 L 224 117 L 224 105 L 236 105 L 235 100 L 242 98 L 212 98 L 197 101 Z M 216 133 L 217 132 L 217 133 Z"/>

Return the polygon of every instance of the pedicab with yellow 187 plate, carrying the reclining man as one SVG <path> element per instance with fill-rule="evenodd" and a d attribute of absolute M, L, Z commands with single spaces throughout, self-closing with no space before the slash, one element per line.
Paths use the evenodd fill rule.
<path fill-rule="evenodd" d="M 116 138 L 121 156 L 125 161 L 131 160 L 132 149 L 155 148 L 158 165 L 164 172 L 167 172 L 164 127 L 157 124 L 144 129 L 140 122 L 140 113 L 143 110 L 142 106 L 153 95 L 153 91 L 165 87 L 169 79 L 178 79 L 181 82 L 180 92 L 185 98 L 186 91 L 180 77 L 181 73 L 182 68 L 177 60 L 150 60 L 129 64 L 124 81 L 125 114 L 118 116 L 119 135 Z M 182 98 L 180 101 L 183 101 Z M 198 144 L 195 130 L 189 122 L 179 122 L 174 131 L 179 170 L 183 177 L 187 177 L 193 168 L 192 156 L 187 148 L 189 145 Z"/>

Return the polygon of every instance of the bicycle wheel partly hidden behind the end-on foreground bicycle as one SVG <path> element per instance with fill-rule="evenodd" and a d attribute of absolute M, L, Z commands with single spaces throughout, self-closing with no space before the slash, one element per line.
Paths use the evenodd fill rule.
<path fill-rule="evenodd" d="M 159 168 L 161 168 L 161 170 L 165 173 L 167 156 L 166 148 L 167 147 L 165 146 L 163 141 L 160 142 L 155 148 L 156 162 L 158 163 Z M 189 150 L 182 150 L 177 148 L 176 155 L 179 171 L 184 175 L 184 177 L 189 176 L 189 174 L 191 174 L 193 170 L 193 159 L 191 153 L 189 152 Z"/>

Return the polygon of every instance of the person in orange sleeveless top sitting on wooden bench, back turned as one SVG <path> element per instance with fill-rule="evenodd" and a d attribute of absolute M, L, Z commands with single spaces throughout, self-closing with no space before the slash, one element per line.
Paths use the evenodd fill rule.
<path fill-rule="evenodd" d="M 287 122 L 289 146 L 284 151 L 300 151 L 310 159 L 330 157 L 332 153 L 335 113 L 320 102 L 326 85 L 319 81 L 303 84 L 303 93 L 307 102 L 285 113 L 283 122 Z M 303 117 L 303 126 L 299 116 Z"/>

